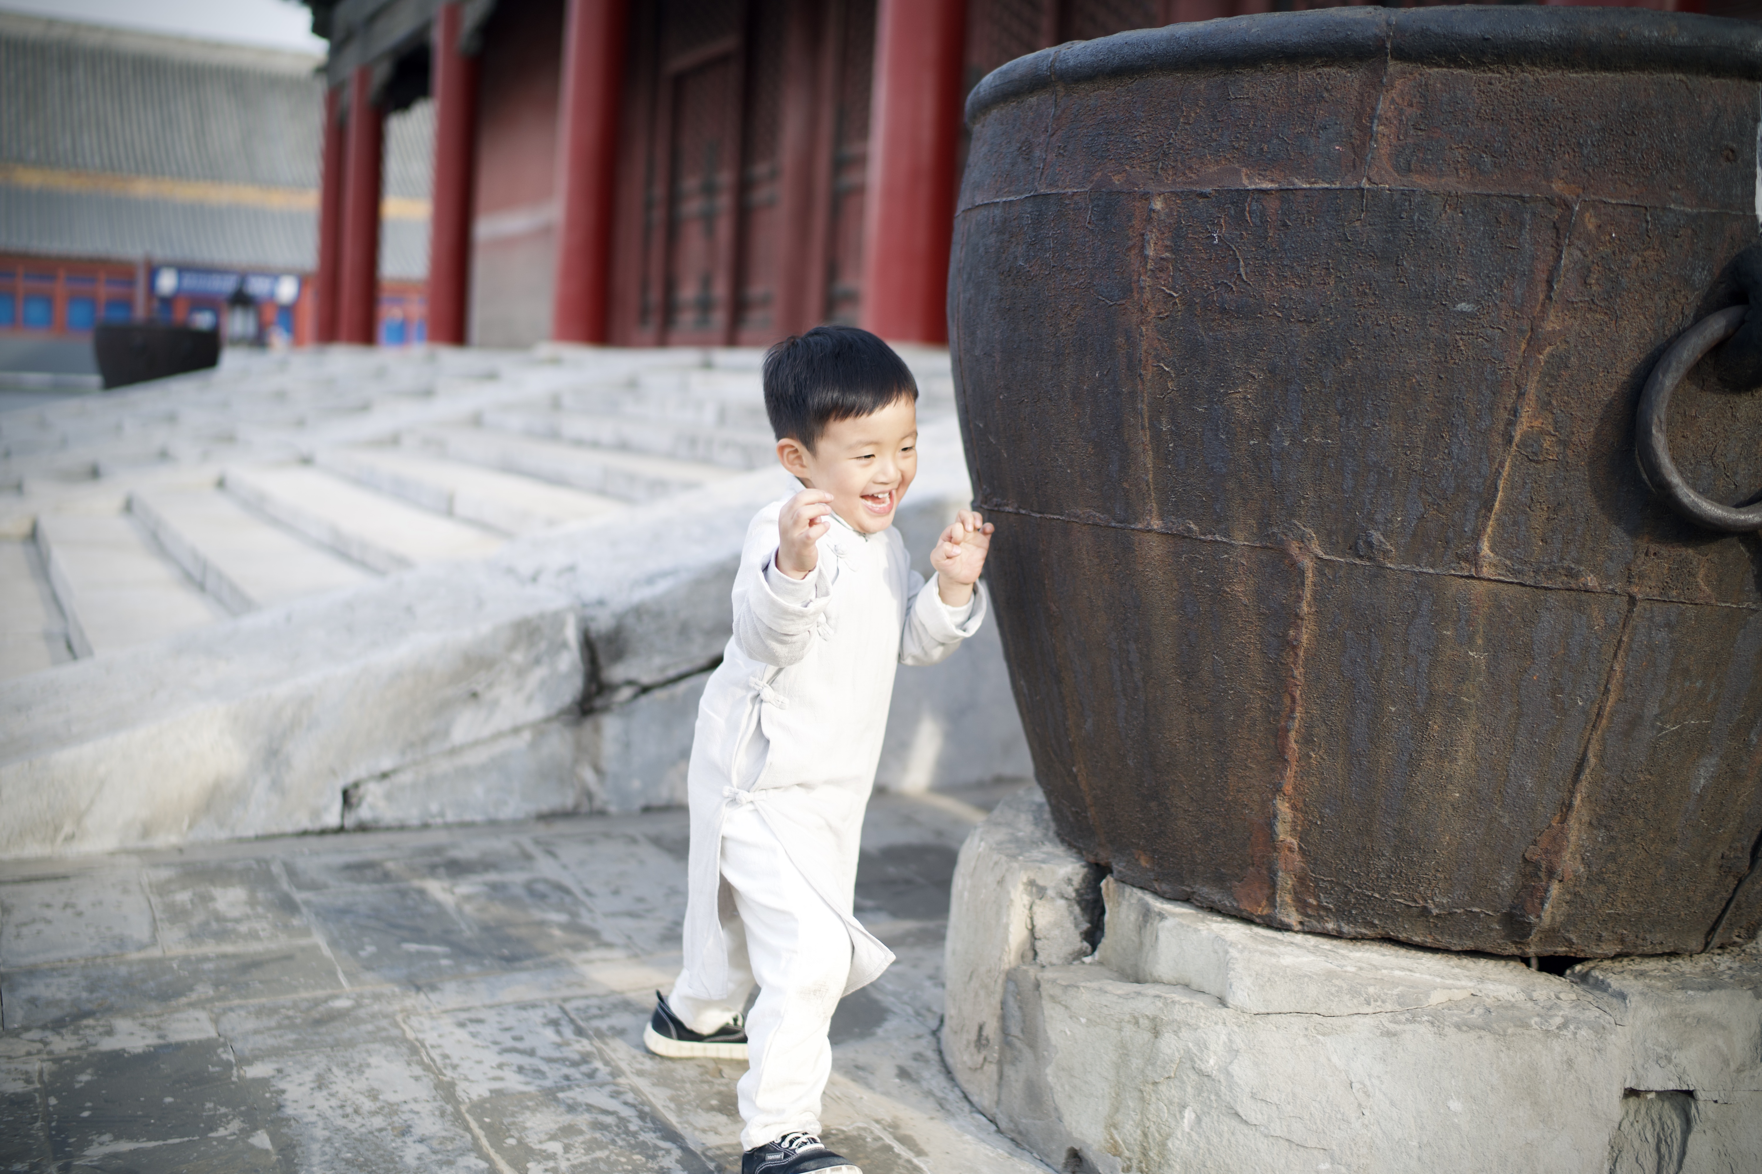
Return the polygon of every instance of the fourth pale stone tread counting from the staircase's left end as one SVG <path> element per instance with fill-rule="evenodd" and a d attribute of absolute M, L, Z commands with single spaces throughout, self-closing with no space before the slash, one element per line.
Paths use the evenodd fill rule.
<path fill-rule="evenodd" d="M 226 470 L 226 491 L 275 521 L 381 572 L 483 558 L 504 537 L 442 517 L 310 465 Z"/>

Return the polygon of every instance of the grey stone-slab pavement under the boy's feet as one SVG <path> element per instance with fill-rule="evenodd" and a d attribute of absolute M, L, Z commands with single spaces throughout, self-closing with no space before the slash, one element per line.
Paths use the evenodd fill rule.
<path fill-rule="evenodd" d="M 1010 790 L 870 806 L 899 963 L 833 1019 L 825 1114 L 865 1174 L 1047 1169 L 936 1038 L 955 852 Z M 744 1065 L 641 1049 L 685 841 L 668 810 L 0 864 L 0 1169 L 738 1170 Z"/>

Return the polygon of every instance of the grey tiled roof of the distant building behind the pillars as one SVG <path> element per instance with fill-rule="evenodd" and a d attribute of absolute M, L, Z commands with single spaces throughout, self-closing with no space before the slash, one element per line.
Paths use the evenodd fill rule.
<path fill-rule="evenodd" d="M 0 14 L 0 164 L 315 192 L 317 58 Z M 388 195 L 426 199 L 433 106 L 386 125 Z M 0 187 L 0 248 L 315 268 L 312 211 Z M 381 273 L 421 280 L 428 224 L 388 220 Z"/>

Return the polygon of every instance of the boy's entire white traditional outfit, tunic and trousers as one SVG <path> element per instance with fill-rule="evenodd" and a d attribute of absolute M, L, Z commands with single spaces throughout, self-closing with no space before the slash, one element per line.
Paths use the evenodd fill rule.
<path fill-rule="evenodd" d="M 789 579 L 775 567 L 784 502 L 747 526 L 735 635 L 698 706 L 685 968 L 668 996 L 708 1033 L 759 986 L 742 1149 L 819 1132 L 832 1012 L 893 961 L 851 912 L 893 672 L 943 660 L 987 611 L 983 588 L 943 604 L 892 526 L 865 535 L 835 514 L 814 572 Z"/>

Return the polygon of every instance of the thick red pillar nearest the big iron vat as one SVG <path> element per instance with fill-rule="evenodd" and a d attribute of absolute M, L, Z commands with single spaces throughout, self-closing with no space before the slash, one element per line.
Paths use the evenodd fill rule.
<path fill-rule="evenodd" d="M 881 0 L 876 12 L 862 324 L 895 341 L 948 340 L 966 0 Z"/>

